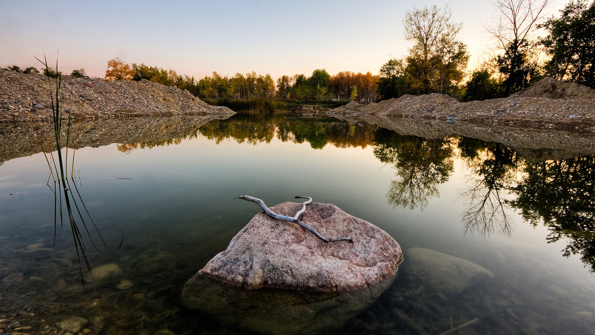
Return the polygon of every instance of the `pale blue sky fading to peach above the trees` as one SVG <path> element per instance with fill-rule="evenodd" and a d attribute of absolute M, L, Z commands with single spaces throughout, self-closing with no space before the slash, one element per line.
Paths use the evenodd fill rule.
<path fill-rule="evenodd" d="M 40 1 L 0 0 L 0 66 L 55 61 L 63 72 L 105 76 L 107 61 L 174 69 L 196 78 L 217 71 L 281 75 L 324 68 L 378 73 L 403 39 L 405 11 L 449 4 L 462 22 L 471 67 L 488 42 L 489 0 L 465 1 Z M 558 1 L 550 13 L 558 14 Z"/>

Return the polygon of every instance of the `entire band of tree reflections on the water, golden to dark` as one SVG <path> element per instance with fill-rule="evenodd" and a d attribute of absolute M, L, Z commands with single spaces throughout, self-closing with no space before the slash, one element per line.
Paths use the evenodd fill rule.
<path fill-rule="evenodd" d="M 543 221 L 550 229 L 547 241 L 568 240 L 563 255 L 581 254 L 595 272 L 595 156 L 527 163 L 512 148 L 496 142 L 465 137 L 425 139 L 399 135 L 368 123 L 350 124 L 330 118 L 300 118 L 287 114 L 239 114 L 213 120 L 183 138 L 202 134 L 217 143 L 234 139 L 239 143 L 308 142 L 321 149 L 374 145 L 374 155 L 396 170 L 386 194 L 394 207 L 409 209 L 428 205 L 439 197 L 439 185 L 453 173 L 455 153 L 461 151 L 466 187 L 459 192 L 465 204 L 464 233 L 488 236 L 511 235 L 511 209 L 536 226 Z M 125 153 L 136 148 L 178 144 L 183 138 L 151 143 L 120 144 Z M 513 199 L 513 200 L 511 200 Z"/>

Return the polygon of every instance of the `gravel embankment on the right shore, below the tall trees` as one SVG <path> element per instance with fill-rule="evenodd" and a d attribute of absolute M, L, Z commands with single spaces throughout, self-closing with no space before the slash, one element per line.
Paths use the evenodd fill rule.
<path fill-rule="evenodd" d="M 414 117 L 455 123 L 595 132 L 595 90 L 546 77 L 508 98 L 461 103 L 449 95 L 403 95 L 361 105 L 355 102 L 328 111 L 352 116 Z"/>

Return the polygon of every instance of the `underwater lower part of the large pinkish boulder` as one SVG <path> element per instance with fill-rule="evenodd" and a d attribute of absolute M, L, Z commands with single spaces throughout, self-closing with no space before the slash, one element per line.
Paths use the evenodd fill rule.
<path fill-rule="evenodd" d="M 201 274 L 193 277 L 191 309 L 212 315 L 221 324 L 258 334 L 330 335 L 371 306 L 396 278 L 347 292 L 248 290 Z M 183 294 L 188 294 L 189 291 Z"/>

